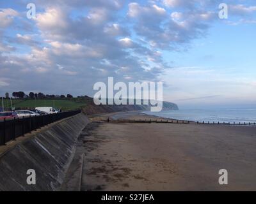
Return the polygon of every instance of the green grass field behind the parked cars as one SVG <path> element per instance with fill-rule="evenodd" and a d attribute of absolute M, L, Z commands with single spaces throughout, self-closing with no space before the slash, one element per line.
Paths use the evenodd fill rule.
<path fill-rule="evenodd" d="M 2 101 L 0 100 L 2 106 Z M 12 99 L 12 106 L 15 108 L 35 108 L 50 106 L 62 110 L 74 110 L 85 106 L 86 101 L 73 99 Z M 4 99 L 4 108 L 11 108 L 10 99 Z"/>

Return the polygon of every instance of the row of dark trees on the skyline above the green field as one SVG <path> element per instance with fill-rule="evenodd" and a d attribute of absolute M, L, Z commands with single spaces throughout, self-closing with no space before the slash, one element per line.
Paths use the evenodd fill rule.
<path fill-rule="evenodd" d="M 17 91 L 17 92 L 12 92 L 13 98 L 73 98 L 71 94 L 67 94 L 67 96 L 61 94 L 61 95 L 54 95 L 54 94 L 43 94 L 42 92 L 34 93 L 34 92 L 29 92 L 29 94 L 25 94 L 23 91 Z M 10 98 L 10 95 L 8 92 L 5 93 L 5 98 Z"/>

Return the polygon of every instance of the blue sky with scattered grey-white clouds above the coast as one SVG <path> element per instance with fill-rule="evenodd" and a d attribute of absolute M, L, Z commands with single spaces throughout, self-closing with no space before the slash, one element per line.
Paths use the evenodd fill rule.
<path fill-rule="evenodd" d="M 2 0 L 0 96 L 93 96 L 114 77 L 163 82 L 182 107 L 256 106 L 255 36 L 250 0 Z"/>

